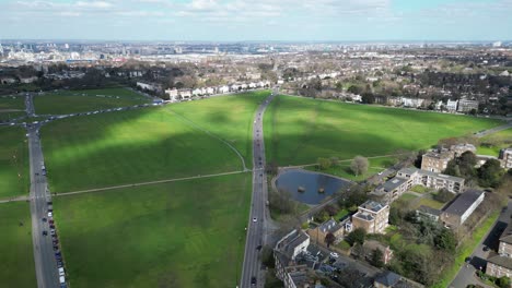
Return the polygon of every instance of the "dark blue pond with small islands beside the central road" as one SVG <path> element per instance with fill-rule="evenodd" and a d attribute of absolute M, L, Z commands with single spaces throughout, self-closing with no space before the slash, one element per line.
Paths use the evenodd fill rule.
<path fill-rule="evenodd" d="M 319 204 L 325 197 L 349 185 L 347 180 L 300 169 L 286 170 L 276 179 L 279 191 L 288 191 L 294 200 L 309 205 Z"/>

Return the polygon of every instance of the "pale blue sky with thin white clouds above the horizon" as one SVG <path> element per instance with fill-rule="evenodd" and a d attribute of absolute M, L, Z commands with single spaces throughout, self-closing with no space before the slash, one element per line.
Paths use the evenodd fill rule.
<path fill-rule="evenodd" d="M 1 39 L 511 40 L 512 0 L 0 0 Z"/>

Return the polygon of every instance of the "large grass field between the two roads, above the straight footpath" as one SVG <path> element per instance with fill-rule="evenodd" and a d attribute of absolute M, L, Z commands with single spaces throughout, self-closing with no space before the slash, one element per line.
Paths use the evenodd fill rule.
<path fill-rule="evenodd" d="M 252 125 L 247 122 L 260 99 L 228 96 L 190 103 L 194 106 L 183 103 L 53 122 L 40 132 L 50 189 L 68 192 L 242 170 L 238 156 L 196 124 L 211 129 L 242 149 L 251 142 Z M 214 108 L 213 101 L 224 105 Z M 232 103 L 237 103 L 233 107 L 249 108 L 240 108 L 241 112 L 217 122 L 209 117 L 230 115 L 235 109 Z M 195 124 L 173 111 L 183 112 Z M 245 155 L 248 152 L 243 151 Z"/>

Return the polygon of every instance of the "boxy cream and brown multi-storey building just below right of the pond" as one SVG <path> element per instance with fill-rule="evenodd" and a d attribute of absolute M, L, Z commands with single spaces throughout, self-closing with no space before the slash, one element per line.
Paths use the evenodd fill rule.
<path fill-rule="evenodd" d="M 366 201 L 352 215 L 353 229 L 363 228 L 368 233 L 384 233 L 389 218 L 389 206 Z"/>

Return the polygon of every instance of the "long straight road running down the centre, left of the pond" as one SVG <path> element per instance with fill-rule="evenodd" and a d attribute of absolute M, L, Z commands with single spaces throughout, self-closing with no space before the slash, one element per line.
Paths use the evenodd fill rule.
<path fill-rule="evenodd" d="M 251 202 L 251 217 L 247 226 L 247 239 L 245 242 L 244 263 L 240 286 L 252 286 L 252 278 L 257 279 L 257 287 L 263 287 L 263 273 L 260 273 L 260 260 L 258 245 L 264 244 L 265 228 L 267 226 L 267 175 L 265 172 L 265 142 L 263 133 L 263 118 L 268 104 L 278 94 L 275 88 L 272 94 L 258 107 L 253 123 L 253 196 Z M 256 219 L 256 221 L 254 221 Z"/>

